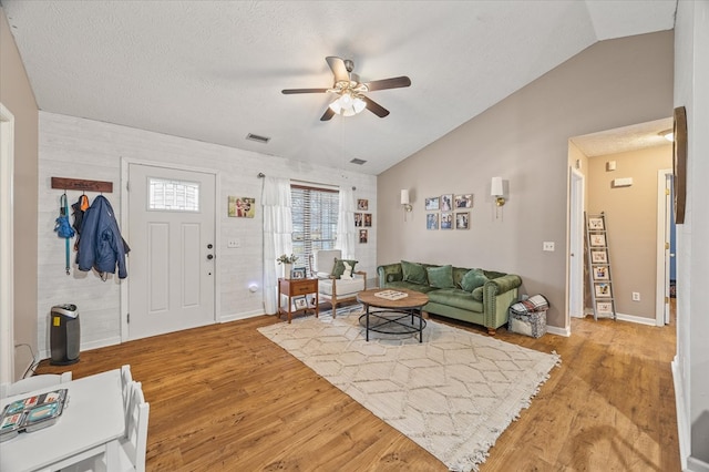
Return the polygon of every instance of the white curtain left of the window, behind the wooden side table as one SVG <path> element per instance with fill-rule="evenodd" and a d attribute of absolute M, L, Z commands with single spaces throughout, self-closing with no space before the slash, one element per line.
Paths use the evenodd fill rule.
<path fill-rule="evenodd" d="M 278 312 L 278 263 L 281 254 L 292 253 L 292 218 L 290 214 L 290 181 L 264 177 L 264 309 Z"/>

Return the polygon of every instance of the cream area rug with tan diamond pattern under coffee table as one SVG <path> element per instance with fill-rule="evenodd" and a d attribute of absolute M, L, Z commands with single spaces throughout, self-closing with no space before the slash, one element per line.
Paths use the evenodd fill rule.
<path fill-rule="evenodd" d="M 367 342 L 359 314 L 258 330 L 453 471 L 477 470 L 561 362 L 431 319 L 423 342 L 376 332 Z"/>

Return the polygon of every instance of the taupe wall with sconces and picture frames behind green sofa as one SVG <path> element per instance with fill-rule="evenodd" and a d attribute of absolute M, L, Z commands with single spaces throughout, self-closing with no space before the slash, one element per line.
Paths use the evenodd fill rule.
<path fill-rule="evenodd" d="M 544 294 L 548 325 L 563 328 L 568 138 L 669 116 L 672 41 L 666 31 L 596 43 L 380 174 L 378 263 L 518 274 L 522 293 Z M 490 197 L 493 176 L 508 181 L 500 218 Z M 401 188 L 412 195 L 408 222 Z M 445 193 L 474 194 L 471 229 L 425 229 L 423 199 Z M 543 242 L 554 242 L 555 252 L 543 252 Z"/>

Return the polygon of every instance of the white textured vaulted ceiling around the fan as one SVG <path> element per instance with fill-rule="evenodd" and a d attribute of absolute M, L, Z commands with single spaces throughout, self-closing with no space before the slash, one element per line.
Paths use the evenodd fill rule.
<path fill-rule="evenodd" d="M 676 0 L 2 6 L 41 110 L 376 175 L 599 40 L 671 29 Z M 280 91 L 330 86 L 327 55 L 412 85 L 320 122 L 327 94 Z"/>

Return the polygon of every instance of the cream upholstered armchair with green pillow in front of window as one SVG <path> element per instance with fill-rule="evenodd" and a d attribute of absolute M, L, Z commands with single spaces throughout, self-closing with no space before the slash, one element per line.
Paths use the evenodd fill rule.
<path fill-rule="evenodd" d="M 316 250 L 309 263 L 310 273 L 318 278 L 320 300 L 327 300 L 332 305 L 332 318 L 339 302 L 353 300 L 358 293 L 367 289 L 367 273 L 353 270 L 356 261 L 342 259 L 340 249 Z"/>

